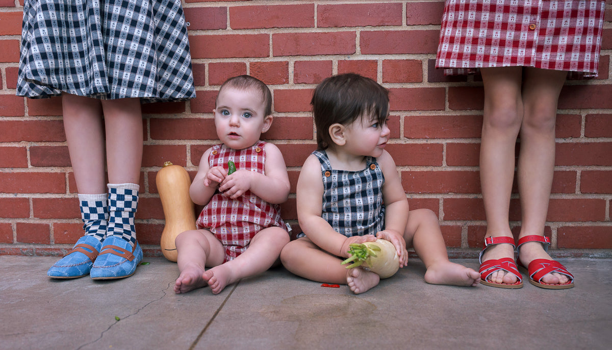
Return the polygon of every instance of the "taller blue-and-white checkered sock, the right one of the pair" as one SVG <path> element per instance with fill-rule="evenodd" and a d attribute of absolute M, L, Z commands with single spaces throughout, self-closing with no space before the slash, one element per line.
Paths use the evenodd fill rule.
<path fill-rule="evenodd" d="M 138 207 L 138 189 L 136 184 L 108 184 L 108 209 L 110 218 L 106 237 L 119 236 L 130 244 L 136 244 L 134 214 Z"/>

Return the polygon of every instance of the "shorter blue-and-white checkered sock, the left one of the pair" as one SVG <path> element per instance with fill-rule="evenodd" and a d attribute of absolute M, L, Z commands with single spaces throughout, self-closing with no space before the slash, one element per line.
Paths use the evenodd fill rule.
<path fill-rule="evenodd" d="M 100 195 L 78 195 L 81 220 L 85 236 L 94 236 L 100 241 L 106 236 L 108 226 L 108 203 L 106 193 Z"/>

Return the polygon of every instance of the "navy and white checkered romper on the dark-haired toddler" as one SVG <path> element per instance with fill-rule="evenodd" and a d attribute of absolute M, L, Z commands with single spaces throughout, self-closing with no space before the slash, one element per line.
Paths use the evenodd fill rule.
<path fill-rule="evenodd" d="M 384 176 L 376 158 L 367 157 L 361 171 L 334 170 L 325 151 L 313 154 L 321 163 L 321 217 L 346 237 L 374 234 L 384 229 Z"/>

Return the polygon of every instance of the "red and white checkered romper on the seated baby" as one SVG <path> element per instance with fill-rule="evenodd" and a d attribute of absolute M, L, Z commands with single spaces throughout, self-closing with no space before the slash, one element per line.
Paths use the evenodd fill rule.
<path fill-rule="evenodd" d="M 227 170 L 231 160 L 237 170 L 246 169 L 264 174 L 265 145 L 265 142 L 258 141 L 255 146 L 236 150 L 224 144 L 217 144 L 212 147 L 208 162 L 211 168 L 223 166 Z M 224 261 L 230 261 L 244 253 L 253 236 L 261 229 L 271 226 L 286 229 L 280 217 L 280 206 L 267 203 L 250 191 L 237 199 L 216 192 L 196 223 L 198 229 L 208 229 L 222 242 L 225 247 Z"/>

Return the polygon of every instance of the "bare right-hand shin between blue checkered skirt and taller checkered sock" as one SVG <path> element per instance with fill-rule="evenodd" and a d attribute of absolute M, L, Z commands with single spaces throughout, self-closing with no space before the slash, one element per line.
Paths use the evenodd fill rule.
<path fill-rule="evenodd" d="M 143 158 L 140 99 L 103 100 L 106 162 L 111 184 L 138 184 Z"/>

